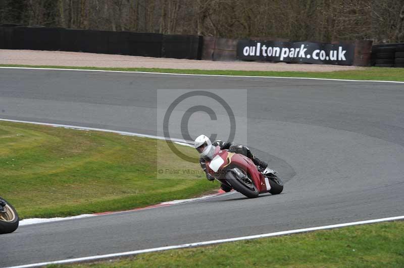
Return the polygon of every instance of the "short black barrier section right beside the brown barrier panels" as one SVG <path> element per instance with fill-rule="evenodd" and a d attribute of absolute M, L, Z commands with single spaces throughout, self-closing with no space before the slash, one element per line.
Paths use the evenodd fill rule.
<path fill-rule="evenodd" d="M 164 35 L 162 57 L 200 59 L 203 37 L 196 35 Z"/>

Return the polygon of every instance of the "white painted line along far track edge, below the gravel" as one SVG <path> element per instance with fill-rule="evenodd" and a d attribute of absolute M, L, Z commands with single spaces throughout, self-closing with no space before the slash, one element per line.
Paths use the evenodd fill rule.
<path fill-rule="evenodd" d="M 108 68 L 108 67 L 107 67 L 107 68 Z M 140 71 L 112 71 L 112 70 L 63 69 L 63 68 L 32 68 L 32 67 L 3 67 L 3 66 L 0 66 L 0 69 L 85 71 L 85 72 L 106 72 L 106 73 L 134 73 L 134 74 L 171 75 L 171 76 L 208 76 L 208 77 L 210 76 L 210 77 L 235 77 L 235 78 L 306 79 L 306 80 L 328 80 L 328 81 L 346 81 L 346 82 L 380 82 L 380 83 L 404 84 L 403 81 L 350 80 L 350 79 L 310 78 L 310 77 L 197 75 L 197 74 L 173 74 L 173 73 L 140 72 Z M 205 70 L 205 71 L 214 71 L 214 70 Z M 228 71 L 232 71 L 232 70 L 228 70 Z"/>

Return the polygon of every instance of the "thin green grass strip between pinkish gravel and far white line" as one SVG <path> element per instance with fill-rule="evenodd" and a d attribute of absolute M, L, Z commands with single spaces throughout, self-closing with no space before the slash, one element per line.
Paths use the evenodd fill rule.
<path fill-rule="evenodd" d="M 265 63 L 263 63 L 265 64 Z M 380 68 L 370 67 L 351 71 L 335 72 L 264 72 L 264 71 L 229 71 L 229 70 L 180 70 L 180 69 L 155 69 L 155 68 L 98 68 L 98 67 L 74 67 L 74 66 L 46 66 L 46 65 L 16 65 L 0 64 L 6 67 L 30 67 L 30 68 L 59 68 L 59 69 L 87 69 L 109 70 L 127 72 L 151 72 L 171 74 L 196 74 L 196 75 L 227 75 L 227 76 L 271 76 L 271 77 L 306 77 L 306 78 L 331 78 L 349 80 L 382 80 L 404 81 L 404 68 Z"/>

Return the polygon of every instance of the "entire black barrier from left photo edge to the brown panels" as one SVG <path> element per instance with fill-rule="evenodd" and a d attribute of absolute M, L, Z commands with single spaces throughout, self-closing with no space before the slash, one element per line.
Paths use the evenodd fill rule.
<path fill-rule="evenodd" d="M 203 37 L 90 31 L 45 27 L 0 27 L 0 48 L 63 50 L 148 57 L 200 59 Z"/>

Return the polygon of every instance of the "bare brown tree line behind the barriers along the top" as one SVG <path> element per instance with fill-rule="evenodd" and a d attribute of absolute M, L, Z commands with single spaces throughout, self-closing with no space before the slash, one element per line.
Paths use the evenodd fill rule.
<path fill-rule="evenodd" d="M 0 0 L 0 24 L 404 42 L 404 0 Z"/>

